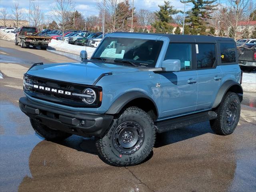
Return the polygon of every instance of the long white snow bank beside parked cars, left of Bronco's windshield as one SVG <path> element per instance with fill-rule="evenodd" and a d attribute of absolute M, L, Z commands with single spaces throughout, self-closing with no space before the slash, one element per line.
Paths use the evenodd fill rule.
<path fill-rule="evenodd" d="M 52 41 L 49 43 L 49 48 L 53 48 L 57 51 L 72 53 L 76 55 L 80 55 L 80 51 L 86 50 L 88 58 L 90 58 L 96 48 L 92 47 L 85 47 L 85 46 L 78 46 L 78 45 L 72 45 L 68 44 L 66 42 L 52 39 Z"/>

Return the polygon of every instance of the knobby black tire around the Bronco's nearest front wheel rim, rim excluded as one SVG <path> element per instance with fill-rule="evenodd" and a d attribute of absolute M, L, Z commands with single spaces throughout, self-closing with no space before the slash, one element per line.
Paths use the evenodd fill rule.
<path fill-rule="evenodd" d="M 130 154 L 121 153 L 116 149 L 114 136 L 118 132 L 118 128 L 126 122 L 135 122 L 139 124 L 144 131 L 144 140 L 140 147 Z M 135 138 L 135 136 L 134 136 Z M 152 118 L 142 109 L 138 107 L 129 107 L 114 120 L 114 123 L 102 138 L 96 141 L 96 148 L 99 156 L 104 162 L 113 166 L 132 166 L 137 165 L 150 155 L 156 140 L 156 130 Z M 114 145 L 115 143 L 115 145 Z"/>

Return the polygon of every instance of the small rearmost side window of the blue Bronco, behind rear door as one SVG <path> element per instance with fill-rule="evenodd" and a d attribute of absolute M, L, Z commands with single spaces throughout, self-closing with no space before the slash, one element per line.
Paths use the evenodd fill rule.
<path fill-rule="evenodd" d="M 236 48 L 235 44 L 221 43 L 220 54 L 222 63 L 236 62 Z"/>

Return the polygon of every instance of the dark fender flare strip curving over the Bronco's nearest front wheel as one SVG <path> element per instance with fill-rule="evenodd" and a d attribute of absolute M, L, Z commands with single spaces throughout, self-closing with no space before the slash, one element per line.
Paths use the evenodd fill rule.
<path fill-rule="evenodd" d="M 106 114 L 118 114 L 122 110 L 122 108 L 126 106 L 126 104 L 137 98 L 146 98 L 150 100 L 154 104 L 158 116 L 158 108 L 154 100 L 146 94 L 138 91 L 128 92 L 120 96 L 117 100 L 114 101 L 114 103 L 112 103 Z"/>

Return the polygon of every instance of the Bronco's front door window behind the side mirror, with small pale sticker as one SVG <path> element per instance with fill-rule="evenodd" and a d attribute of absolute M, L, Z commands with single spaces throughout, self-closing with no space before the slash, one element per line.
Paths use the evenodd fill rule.
<path fill-rule="evenodd" d="M 170 43 L 164 60 L 180 60 L 180 70 L 192 69 L 191 44 Z"/>

